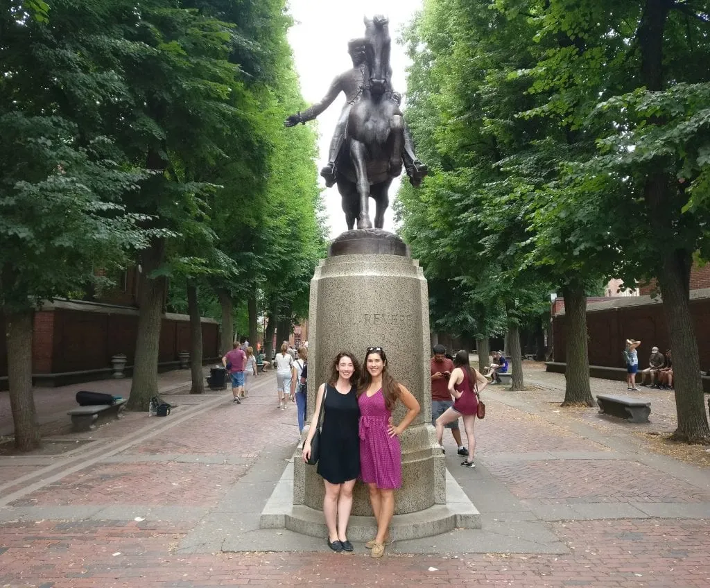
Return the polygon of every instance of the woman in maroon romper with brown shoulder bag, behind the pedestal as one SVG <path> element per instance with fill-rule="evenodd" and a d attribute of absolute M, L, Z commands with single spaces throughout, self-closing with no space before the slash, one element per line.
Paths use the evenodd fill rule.
<path fill-rule="evenodd" d="M 437 418 L 437 439 L 439 440 L 439 445 L 441 445 L 444 427 L 463 416 L 464 430 L 469 443 L 469 457 L 466 457 L 461 462 L 464 467 L 476 467 L 474 464 L 474 450 L 476 449 L 474 425 L 476 424 L 476 413 L 479 409 L 479 393 L 486 386 L 488 386 L 488 380 L 471 367 L 471 364 L 469 364 L 469 352 L 466 349 L 461 349 L 454 357 L 454 371 L 449 376 L 449 393 L 454 398 L 454 405 L 451 408 L 447 408 Z"/>

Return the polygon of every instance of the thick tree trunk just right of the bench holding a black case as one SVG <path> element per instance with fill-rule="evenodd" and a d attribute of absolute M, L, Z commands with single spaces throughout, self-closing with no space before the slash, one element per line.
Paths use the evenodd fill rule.
<path fill-rule="evenodd" d="M 141 273 L 138 274 L 138 335 L 136 357 L 133 361 L 131 396 L 126 408 L 148 410 L 151 398 L 158 394 L 158 352 L 160 350 L 160 323 L 163 320 L 165 276 L 149 277 L 163 263 L 165 242 L 156 240 L 141 252 Z"/>

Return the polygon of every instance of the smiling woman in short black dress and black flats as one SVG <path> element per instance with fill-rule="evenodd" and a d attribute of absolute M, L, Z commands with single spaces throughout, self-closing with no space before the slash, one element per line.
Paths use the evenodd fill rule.
<path fill-rule="evenodd" d="M 333 551 L 353 550 L 346 530 L 355 480 L 360 475 L 360 409 L 356 396 L 359 376 L 360 367 L 355 357 L 347 352 L 337 354 L 328 383 L 318 388 L 310 428 L 303 442 L 303 460 L 306 461 L 325 398 L 317 471 L 325 484 L 323 514 L 328 527 L 328 546 Z"/>

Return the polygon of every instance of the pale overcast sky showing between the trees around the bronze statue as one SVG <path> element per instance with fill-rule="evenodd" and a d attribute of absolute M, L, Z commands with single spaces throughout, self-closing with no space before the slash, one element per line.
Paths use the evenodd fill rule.
<path fill-rule="evenodd" d="M 392 83 L 398 92 L 405 94 L 407 89 L 405 67 L 409 60 L 404 53 L 404 48 L 395 40 L 399 36 L 400 28 L 411 21 L 415 11 L 421 9 L 421 4 L 421 0 L 290 0 L 289 11 L 295 24 L 288 38 L 293 48 L 296 69 L 301 80 L 301 91 L 306 102 L 312 104 L 322 99 L 333 78 L 352 67 L 347 42 L 351 38 L 364 36 L 363 16 L 372 18 L 375 14 L 384 14 L 390 19 L 390 36 L 393 39 Z M 330 139 L 344 103 L 344 95 L 340 94 L 340 97 L 317 119 L 320 133 L 318 142 L 320 156 L 317 162 L 319 172 L 320 168 L 327 163 Z M 405 177 L 404 171 L 402 176 Z M 321 187 L 325 187 L 320 175 L 318 177 Z M 398 185 L 395 180 L 390 188 L 391 202 Z M 337 236 L 347 229 L 337 187 L 325 190 L 324 204 L 330 224 L 330 234 L 332 237 Z M 374 216 L 373 204 L 374 201 L 371 200 L 371 219 Z M 393 230 L 391 207 L 388 208 L 385 216 L 384 228 Z"/>

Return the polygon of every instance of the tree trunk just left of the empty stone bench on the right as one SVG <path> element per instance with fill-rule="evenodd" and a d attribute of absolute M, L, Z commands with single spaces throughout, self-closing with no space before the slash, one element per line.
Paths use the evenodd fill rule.
<path fill-rule="evenodd" d="M 589 387 L 589 348 L 586 331 L 586 293 L 584 285 L 574 281 L 562 287 L 564 297 L 564 332 L 567 334 L 567 367 L 564 370 L 562 406 L 594 406 Z"/>

